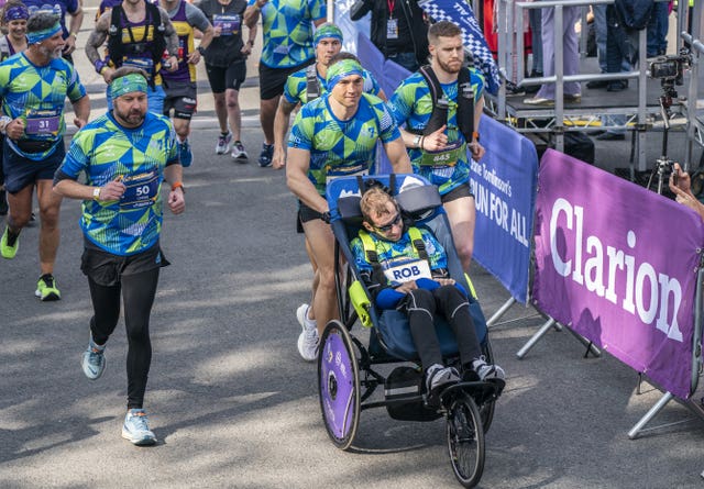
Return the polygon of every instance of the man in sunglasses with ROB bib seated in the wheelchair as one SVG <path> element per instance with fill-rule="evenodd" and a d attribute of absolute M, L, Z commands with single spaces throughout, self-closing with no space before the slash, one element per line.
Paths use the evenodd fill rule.
<path fill-rule="evenodd" d="M 466 291 L 450 278 L 447 255 L 432 233 L 406 222 L 394 198 L 372 186 L 360 202 L 363 229 L 351 247 L 374 303 L 408 315 L 409 329 L 425 369 L 430 399 L 449 384 L 504 378 L 481 354 Z M 462 376 L 442 363 L 435 329 L 442 314 L 458 342 Z"/>

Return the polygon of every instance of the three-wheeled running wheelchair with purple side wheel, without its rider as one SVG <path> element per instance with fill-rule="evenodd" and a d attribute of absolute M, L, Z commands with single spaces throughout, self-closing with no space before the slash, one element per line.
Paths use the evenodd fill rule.
<path fill-rule="evenodd" d="M 376 176 L 374 179 L 382 180 L 391 186 L 395 191 L 396 180 L 404 178 L 398 176 Z M 418 179 L 418 176 L 414 176 Z M 369 178 L 367 178 L 369 179 Z M 364 180 L 366 181 L 366 180 Z M 358 179 L 359 186 L 364 186 L 364 181 Z M 402 196 L 395 196 L 402 209 L 415 218 L 417 225 L 429 225 L 436 221 L 436 236 L 441 241 L 450 264 L 451 276 L 465 286 L 465 290 L 473 291 L 465 280 L 462 271 L 452 236 L 449 222 L 441 210 L 439 195 L 430 199 L 428 207 L 420 209 L 407 209 L 414 207 L 415 197 L 428 193 L 428 189 L 437 188 L 428 184 L 424 190 L 415 191 L 416 196 L 409 199 L 404 205 Z M 413 193 L 413 192 L 411 192 Z M 358 197 L 359 199 L 359 197 Z M 359 208 L 359 200 L 358 208 Z M 354 202 L 351 205 L 354 209 Z M 333 207 L 331 205 L 331 209 Z M 389 415 L 404 421 L 432 421 L 446 418 L 446 432 L 450 460 L 457 479 L 464 487 L 474 487 L 479 484 L 484 468 L 484 434 L 488 431 L 495 410 L 495 402 L 504 388 L 503 380 L 459 382 L 444 389 L 440 393 L 439 405 L 429 403 L 422 386 L 422 369 L 417 356 L 404 357 L 397 352 L 391 352 L 385 343 L 384 334 L 380 324 L 384 318 L 380 316 L 373 305 L 367 309 L 372 327 L 370 331 L 369 346 L 361 340 L 352 335 L 351 331 L 358 322 L 359 314 L 351 303 L 349 287 L 360 279 L 360 273 L 354 266 L 354 257 L 350 249 L 350 230 L 359 227 L 353 221 L 360 215 L 344 215 L 346 211 L 334 205 L 336 212 L 331 220 L 331 226 L 336 236 L 336 289 L 338 294 L 338 310 L 341 321 L 333 320 L 326 325 L 320 338 L 320 353 L 318 355 L 318 387 L 319 400 L 323 422 L 333 444 L 348 449 L 352 446 L 356 430 L 359 427 L 360 414 L 362 411 L 372 408 L 386 408 Z M 358 211 L 359 212 L 359 211 Z M 444 227 L 444 233 L 438 235 L 437 230 Z M 364 288 L 367 298 L 371 297 Z M 474 322 L 483 321 L 483 337 L 481 342 L 482 353 L 488 363 L 494 362 L 491 342 L 486 334 L 486 322 L 479 309 L 479 302 L 471 298 Z M 477 318 L 477 310 L 481 318 Z M 382 314 L 383 315 L 383 314 Z M 476 326 L 476 324 L 475 324 Z M 442 343 L 442 337 L 441 337 Z M 443 346 L 443 357 L 446 363 L 452 365 L 459 362 L 457 349 L 447 354 L 447 345 Z M 450 349 L 452 349 L 450 347 Z M 388 376 L 378 373 L 374 367 L 388 364 L 410 364 L 411 367 L 397 367 Z M 396 377 L 394 377 L 395 374 Z M 370 400 L 380 386 L 385 387 L 382 400 Z M 481 429 L 480 429 L 481 426 Z"/>

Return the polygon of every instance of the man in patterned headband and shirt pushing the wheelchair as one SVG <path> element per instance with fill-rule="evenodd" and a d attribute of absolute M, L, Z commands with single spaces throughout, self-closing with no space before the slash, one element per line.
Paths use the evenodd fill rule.
<path fill-rule="evenodd" d="M 337 315 L 334 237 L 326 220 L 326 185 L 339 176 L 373 170 L 376 142 L 384 145 L 395 173 L 409 173 L 410 162 L 400 133 L 378 97 L 363 92 L 364 71 L 352 59 L 328 68 L 328 92 L 305 104 L 288 138 L 286 178 L 300 201 L 300 221 L 318 266 L 310 308 L 300 311 L 302 332 L 298 351 L 308 362 L 317 358 L 318 332 Z"/>

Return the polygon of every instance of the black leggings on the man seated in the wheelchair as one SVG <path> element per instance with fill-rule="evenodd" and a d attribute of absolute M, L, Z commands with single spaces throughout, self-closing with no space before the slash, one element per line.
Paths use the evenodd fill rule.
<path fill-rule="evenodd" d="M 410 335 L 424 369 L 433 364 L 442 365 L 442 353 L 433 322 L 436 314 L 444 316 L 450 324 L 458 342 L 462 365 L 470 364 L 482 354 L 470 315 L 470 304 L 457 287 L 411 290 L 402 301 L 400 310 L 408 314 Z"/>

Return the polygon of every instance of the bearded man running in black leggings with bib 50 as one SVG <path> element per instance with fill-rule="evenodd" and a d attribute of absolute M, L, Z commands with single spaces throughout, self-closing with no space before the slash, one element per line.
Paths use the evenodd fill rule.
<path fill-rule="evenodd" d="M 88 348 L 81 357 L 86 377 L 106 368 L 106 346 L 124 303 L 128 337 L 128 412 L 122 437 L 153 445 L 143 408 L 152 360 L 150 315 L 162 254 L 162 184 L 170 185 L 166 203 L 174 214 L 186 209 L 183 169 L 170 120 L 147 111 L 147 74 L 123 66 L 112 75 L 112 110 L 79 131 L 54 177 L 54 190 L 82 200 L 81 270 L 94 307 Z M 79 184 L 79 175 L 86 184 Z"/>

